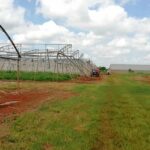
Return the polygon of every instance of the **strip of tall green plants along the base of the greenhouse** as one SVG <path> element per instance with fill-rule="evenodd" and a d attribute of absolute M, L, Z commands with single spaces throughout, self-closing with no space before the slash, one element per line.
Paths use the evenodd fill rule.
<path fill-rule="evenodd" d="M 65 81 L 77 77 L 77 75 L 57 74 L 52 72 L 20 72 L 20 80 L 35 81 Z M 0 80 L 17 80 L 16 71 L 0 71 Z"/>

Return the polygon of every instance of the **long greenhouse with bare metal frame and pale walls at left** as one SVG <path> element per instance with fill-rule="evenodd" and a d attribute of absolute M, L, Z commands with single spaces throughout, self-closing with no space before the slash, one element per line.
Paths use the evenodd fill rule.
<path fill-rule="evenodd" d="M 5 29 L 8 43 L 0 44 L 0 70 L 54 72 L 89 76 L 94 64 L 83 59 L 72 44 L 14 44 Z"/>

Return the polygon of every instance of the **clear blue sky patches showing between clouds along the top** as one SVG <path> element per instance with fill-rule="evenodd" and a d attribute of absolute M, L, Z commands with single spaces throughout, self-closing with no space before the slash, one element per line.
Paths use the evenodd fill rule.
<path fill-rule="evenodd" d="M 116 3 L 119 4 L 120 0 L 116 0 Z M 45 19 L 42 15 L 36 13 L 36 0 L 15 0 L 15 4 L 26 9 L 25 17 L 27 20 L 30 20 L 35 24 L 40 24 L 47 21 L 47 19 Z M 135 0 L 123 5 L 123 7 L 131 17 L 150 17 L 150 0 Z M 98 6 L 96 5 L 95 7 L 92 7 L 92 9 L 97 8 Z M 59 22 L 59 20 L 57 20 L 57 22 Z"/>

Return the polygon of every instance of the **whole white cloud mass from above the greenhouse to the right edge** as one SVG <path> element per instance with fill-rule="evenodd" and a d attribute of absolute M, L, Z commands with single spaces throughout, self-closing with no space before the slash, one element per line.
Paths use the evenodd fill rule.
<path fill-rule="evenodd" d="M 98 5 L 97 9 L 90 9 L 93 5 Z M 112 0 L 56 0 L 53 3 L 38 0 L 38 12 L 53 21 L 31 26 L 26 34 L 15 36 L 17 41 L 49 39 L 55 43 L 72 43 L 97 64 L 107 65 L 116 61 L 128 63 L 129 59 L 136 62 L 139 59 L 134 58 L 134 53 L 140 56 L 143 51 L 150 51 L 150 19 L 129 17 L 124 8 Z M 65 23 L 54 23 L 59 19 Z M 81 32 L 75 33 L 68 27 L 80 28 Z"/>

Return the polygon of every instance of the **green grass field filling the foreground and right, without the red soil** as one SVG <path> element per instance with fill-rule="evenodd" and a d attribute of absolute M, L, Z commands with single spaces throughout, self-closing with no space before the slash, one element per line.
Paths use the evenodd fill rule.
<path fill-rule="evenodd" d="M 69 99 L 46 101 L 15 120 L 5 118 L 0 149 L 149 150 L 150 83 L 137 80 L 143 77 L 116 74 L 70 84 L 75 95 Z"/>

